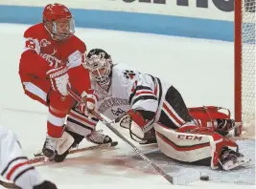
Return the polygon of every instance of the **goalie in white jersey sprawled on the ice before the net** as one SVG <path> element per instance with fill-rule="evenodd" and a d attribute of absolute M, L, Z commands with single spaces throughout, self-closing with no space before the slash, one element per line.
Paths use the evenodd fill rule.
<path fill-rule="evenodd" d="M 208 164 L 212 169 L 230 170 L 249 161 L 227 137 L 240 135 L 228 110 L 223 109 L 224 113 L 214 106 L 188 109 L 173 85 L 113 64 L 101 49 L 87 53 L 84 67 L 98 95 L 95 111 L 113 119 L 133 140 L 157 142 L 169 158 Z M 82 111 L 83 106 L 77 108 Z"/>

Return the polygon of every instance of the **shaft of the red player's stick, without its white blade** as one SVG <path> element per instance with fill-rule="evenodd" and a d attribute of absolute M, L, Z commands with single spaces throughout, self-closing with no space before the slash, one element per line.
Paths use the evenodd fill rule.
<path fill-rule="evenodd" d="M 75 94 L 71 89 L 68 89 L 68 93 L 78 102 L 83 103 L 80 96 Z M 96 114 L 96 113 L 95 113 Z M 146 162 L 148 162 L 161 176 L 163 176 L 165 179 L 167 179 L 172 184 L 178 184 L 174 182 L 174 178 L 167 173 L 165 173 L 160 167 L 158 167 L 156 164 L 154 164 L 150 158 L 146 157 L 135 145 L 133 145 L 128 139 L 120 134 L 108 121 L 105 120 L 101 115 L 96 115 L 104 124 L 105 126 L 110 129 L 115 135 L 119 136 L 121 139 L 123 139 L 125 142 L 128 143 L 128 145 L 132 148 L 132 150 L 137 153 L 141 158 L 143 158 Z"/>

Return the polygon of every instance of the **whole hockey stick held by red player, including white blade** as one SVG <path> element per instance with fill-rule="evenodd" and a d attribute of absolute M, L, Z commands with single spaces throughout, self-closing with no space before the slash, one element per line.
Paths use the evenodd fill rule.
<path fill-rule="evenodd" d="M 81 97 L 78 94 L 75 94 L 70 88 L 68 88 L 68 93 L 78 102 L 80 103 L 84 103 L 81 99 Z M 92 113 L 93 115 L 97 116 L 99 118 L 99 120 L 101 120 L 105 126 L 110 129 L 115 135 L 119 136 L 121 139 L 123 139 L 131 148 L 132 150 L 137 153 L 140 158 L 144 159 L 147 163 L 149 163 L 156 172 L 158 172 L 162 177 L 164 177 L 165 179 L 167 179 L 170 183 L 172 184 L 177 184 L 177 185 L 186 185 L 190 182 L 193 182 L 195 180 L 201 179 L 202 176 L 200 174 L 200 172 L 195 171 L 194 173 L 192 173 L 191 175 L 189 175 L 189 177 L 172 177 L 170 175 L 168 175 L 166 172 L 164 172 L 160 167 L 158 167 L 155 163 L 153 163 L 151 161 L 150 158 L 148 158 L 147 156 L 145 156 L 135 145 L 133 145 L 130 141 L 128 141 L 128 139 L 123 136 L 122 134 L 119 133 L 118 130 L 116 130 L 111 123 L 109 123 L 107 120 L 105 120 L 104 117 L 102 117 L 101 115 L 98 115 L 96 112 Z"/>

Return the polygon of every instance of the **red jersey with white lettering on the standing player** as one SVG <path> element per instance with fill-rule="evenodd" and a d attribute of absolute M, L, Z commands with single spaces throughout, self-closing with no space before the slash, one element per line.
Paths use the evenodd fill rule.
<path fill-rule="evenodd" d="M 51 87 L 46 73 L 63 64 L 68 66 L 71 86 L 78 93 L 90 88 L 88 71 L 81 65 L 86 51 L 81 39 L 73 35 L 67 40 L 55 41 L 42 23 L 25 31 L 24 38 L 25 47 L 20 58 L 19 74 L 27 91 L 43 96 L 43 92 L 48 92 Z"/>

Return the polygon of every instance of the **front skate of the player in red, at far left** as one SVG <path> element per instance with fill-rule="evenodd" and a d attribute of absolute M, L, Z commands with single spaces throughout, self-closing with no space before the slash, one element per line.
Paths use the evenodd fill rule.
<path fill-rule="evenodd" d="M 58 138 L 46 136 L 42 153 L 47 158 L 54 158 L 56 155 Z"/>

